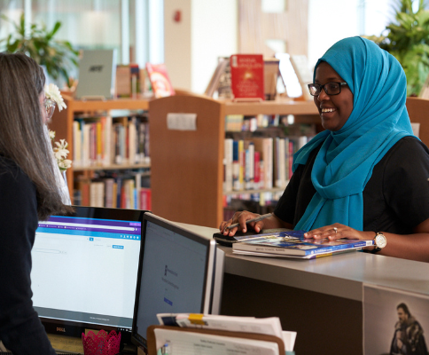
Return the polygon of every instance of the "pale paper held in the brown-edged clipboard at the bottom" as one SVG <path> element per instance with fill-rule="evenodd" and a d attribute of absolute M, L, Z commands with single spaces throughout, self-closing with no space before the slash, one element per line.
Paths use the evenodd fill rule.
<path fill-rule="evenodd" d="M 206 335 L 191 332 L 175 332 L 157 328 L 156 349 L 168 343 L 169 353 L 174 355 L 279 355 L 278 345 L 248 338 L 235 338 L 221 335 Z M 283 354 L 282 354 L 283 355 Z"/>

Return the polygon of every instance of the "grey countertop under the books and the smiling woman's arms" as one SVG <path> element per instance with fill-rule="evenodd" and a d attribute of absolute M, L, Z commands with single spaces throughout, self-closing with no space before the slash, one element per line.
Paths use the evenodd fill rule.
<path fill-rule="evenodd" d="M 183 225 L 212 238 L 217 229 Z M 354 251 L 313 260 L 239 256 L 225 252 L 224 272 L 362 301 L 363 283 L 429 296 L 429 263 Z"/>

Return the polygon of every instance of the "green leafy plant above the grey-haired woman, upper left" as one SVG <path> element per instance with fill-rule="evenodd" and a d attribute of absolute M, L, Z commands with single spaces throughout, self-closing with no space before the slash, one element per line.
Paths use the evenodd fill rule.
<path fill-rule="evenodd" d="M 44 24 L 41 26 L 31 24 L 29 34 L 26 36 L 24 14 L 21 15 L 19 23 L 11 21 L 5 15 L 1 17 L 3 20 L 12 22 L 15 28 L 14 33 L 0 40 L 2 51 L 26 53 L 39 65 L 45 67 L 52 79 L 58 80 L 62 77 L 70 87 L 69 71 L 78 67 L 79 51 L 74 50 L 71 43 L 53 38 L 61 27 L 61 22 L 57 21 L 51 30 L 48 30 Z"/>

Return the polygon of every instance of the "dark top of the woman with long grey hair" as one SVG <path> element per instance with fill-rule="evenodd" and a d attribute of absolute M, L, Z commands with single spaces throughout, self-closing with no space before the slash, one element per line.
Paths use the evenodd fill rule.
<path fill-rule="evenodd" d="M 0 156 L 0 340 L 14 355 L 55 354 L 31 301 L 36 228 L 35 185 Z"/>

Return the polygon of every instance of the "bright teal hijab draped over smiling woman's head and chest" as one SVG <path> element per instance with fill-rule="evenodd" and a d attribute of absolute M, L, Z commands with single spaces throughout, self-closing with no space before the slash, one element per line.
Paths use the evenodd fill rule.
<path fill-rule="evenodd" d="M 316 193 L 295 229 L 340 223 L 362 231 L 363 189 L 374 166 L 399 139 L 413 135 L 406 78 L 391 54 L 362 37 L 335 43 L 317 61 L 314 77 L 321 62 L 347 82 L 353 111 L 340 130 L 322 131 L 293 155 L 295 171 L 322 145 L 311 172 Z"/>

